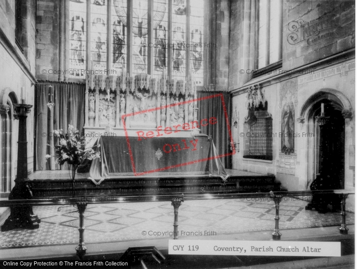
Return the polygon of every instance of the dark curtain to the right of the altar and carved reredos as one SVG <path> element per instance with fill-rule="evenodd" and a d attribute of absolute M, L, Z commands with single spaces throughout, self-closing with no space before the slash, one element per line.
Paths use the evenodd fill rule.
<path fill-rule="evenodd" d="M 197 98 L 208 97 L 215 94 L 223 95 L 228 115 L 228 122 L 231 124 L 232 95 L 230 93 L 219 91 L 197 91 Z M 208 126 L 200 126 L 201 133 L 205 133 L 212 137 L 213 143 L 215 144 L 219 155 L 231 153 L 231 139 L 228 134 L 221 97 L 214 97 L 197 101 L 197 106 L 199 108 L 198 120 L 206 118 L 209 120 L 211 117 L 217 118 L 217 123 L 214 125 L 209 124 Z M 232 168 L 232 155 L 222 157 L 221 160 L 225 168 Z"/>

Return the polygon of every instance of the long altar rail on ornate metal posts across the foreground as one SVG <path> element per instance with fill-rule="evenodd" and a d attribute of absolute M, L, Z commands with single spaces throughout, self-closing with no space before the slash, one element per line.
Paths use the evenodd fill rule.
<path fill-rule="evenodd" d="M 178 214 L 179 207 L 184 200 L 208 200 L 208 199 L 240 199 L 240 198 L 271 198 L 275 203 L 275 227 L 272 233 L 273 240 L 281 239 L 281 232 L 279 231 L 279 204 L 283 197 L 299 197 L 299 196 L 314 196 L 314 195 L 339 195 L 341 197 L 341 227 L 340 233 L 347 234 L 346 227 L 346 199 L 348 195 L 355 194 L 354 190 L 324 190 L 324 191 L 294 191 L 294 192 L 269 192 L 269 193 L 228 193 L 228 194 L 198 194 L 198 195 L 134 195 L 134 196 L 113 196 L 112 201 L 98 201 L 90 199 L 90 197 L 61 197 L 61 198 L 47 198 L 47 201 L 41 199 L 31 200 L 8 200 L 0 201 L 0 207 L 15 207 L 15 206 L 50 206 L 50 205 L 76 205 L 80 215 L 79 229 L 79 245 L 76 248 L 77 255 L 81 258 L 86 254 L 86 247 L 84 245 L 84 211 L 87 204 L 109 204 L 109 203 L 129 203 L 129 202 L 158 202 L 171 201 L 174 208 L 174 222 L 173 222 L 173 239 L 178 239 Z"/>

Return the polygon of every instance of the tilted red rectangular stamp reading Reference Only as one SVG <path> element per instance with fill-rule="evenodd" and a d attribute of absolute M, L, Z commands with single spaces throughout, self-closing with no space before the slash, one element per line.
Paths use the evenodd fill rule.
<path fill-rule="evenodd" d="M 152 130 L 136 130 L 135 135 L 129 136 L 125 119 L 130 121 L 136 115 L 177 110 L 176 106 L 183 107 L 185 104 L 192 106 L 207 99 L 219 98 L 223 110 L 222 118 L 214 116 L 190 122 L 175 122 L 170 126 L 157 126 Z M 202 104 L 203 105 L 203 104 Z M 186 107 L 187 107 L 186 106 Z M 204 134 L 200 134 L 201 128 L 212 128 L 219 124 L 220 127 L 227 128 L 230 142 L 233 143 L 231 126 L 228 120 L 226 105 L 223 94 L 213 94 L 206 97 L 191 99 L 183 102 L 172 103 L 164 106 L 153 107 L 147 110 L 133 112 L 121 116 L 124 127 L 126 143 L 130 155 L 131 165 L 134 175 L 140 176 L 148 173 L 163 172 L 192 172 L 205 171 L 207 163 L 213 159 L 234 155 L 232 152 L 217 153 L 212 139 Z M 224 123 L 220 123 L 223 121 Z M 188 168 L 187 166 L 190 167 Z M 167 171 L 167 172 L 169 172 Z"/>

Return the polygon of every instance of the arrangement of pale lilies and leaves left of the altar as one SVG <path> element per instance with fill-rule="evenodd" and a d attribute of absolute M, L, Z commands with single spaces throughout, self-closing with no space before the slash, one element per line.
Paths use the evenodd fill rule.
<path fill-rule="evenodd" d="M 87 147 L 85 137 L 81 137 L 78 129 L 74 129 L 72 125 L 68 125 L 67 133 L 63 130 L 54 130 L 54 136 L 59 139 L 59 145 L 55 146 L 56 163 L 63 165 L 67 163 L 77 168 L 84 160 L 100 158 L 100 154 L 93 150 L 93 147 Z M 100 146 L 99 144 L 96 146 Z M 46 155 L 45 159 L 53 157 Z"/>

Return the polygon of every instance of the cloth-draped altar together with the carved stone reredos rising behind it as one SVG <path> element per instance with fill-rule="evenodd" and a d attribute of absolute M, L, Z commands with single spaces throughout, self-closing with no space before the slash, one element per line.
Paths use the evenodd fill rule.
<path fill-rule="evenodd" d="M 222 156 L 212 139 L 199 133 L 200 125 L 217 119 L 198 119 L 197 105 L 191 76 L 168 79 L 165 70 L 161 76 L 129 76 L 125 70 L 117 76 L 88 74 L 84 130 L 86 137 L 97 138 L 100 152 L 89 179 L 99 185 L 113 176 L 187 173 L 224 181 Z"/>

